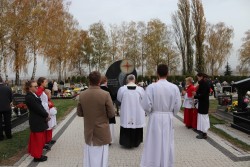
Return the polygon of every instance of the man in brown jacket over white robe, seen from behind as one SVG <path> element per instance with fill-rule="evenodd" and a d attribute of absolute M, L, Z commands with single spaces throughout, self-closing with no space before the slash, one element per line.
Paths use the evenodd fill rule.
<path fill-rule="evenodd" d="M 115 116 L 111 97 L 100 88 L 101 74 L 89 74 L 90 86 L 79 96 L 77 115 L 84 117 L 84 167 L 107 167 L 111 142 L 109 118 Z"/>

